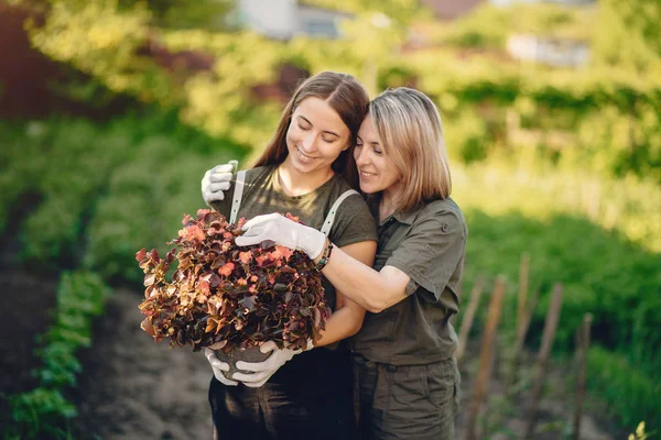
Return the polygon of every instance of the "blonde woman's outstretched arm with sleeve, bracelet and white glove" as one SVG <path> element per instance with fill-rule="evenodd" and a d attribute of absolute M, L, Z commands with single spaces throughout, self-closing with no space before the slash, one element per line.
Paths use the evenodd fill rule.
<path fill-rule="evenodd" d="M 347 298 L 373 314 L 401 301 L 408 294 L 412 294 L 418 285 L 423 286 L 438 300 L 464 252 L 463 224 L 458 213 L 442 212 L 427 216 L 409 232 L 380 272 L 355 260 L 342 249 L 336 249 L 323 273 Z M 272 240 L 290 249 L 304 250 L 317 262 L 324 246 L 327 245 L 327 239 L 321 232 L 280 215 L 256 217 L 248 221 L 243 229 L 246 233 L 236 239 L 240 246 Z M 437 273 L 429 276 L 430 274 L 421 272 L 421 267 L 437 268 Z M 412 277 L 415 279 L 412 280 Z"/>

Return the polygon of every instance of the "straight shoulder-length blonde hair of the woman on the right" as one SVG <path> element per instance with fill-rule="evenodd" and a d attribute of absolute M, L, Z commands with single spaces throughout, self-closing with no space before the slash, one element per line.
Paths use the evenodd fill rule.
<path fill-rule="evenodd" d="M 389 89 L 369 103 L 369 116 L 386 155 L 400 176 L 394 209 L 445 199 L 452 193 L 438 109 L 424 94 L 407 87 Z"/>

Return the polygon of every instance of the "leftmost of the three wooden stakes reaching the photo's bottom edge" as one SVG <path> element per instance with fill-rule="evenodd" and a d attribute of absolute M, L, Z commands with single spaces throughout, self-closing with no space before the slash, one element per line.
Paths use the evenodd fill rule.
<path fill-rule="evenodd" d="M 489 301 L 489 310 L 487 316 L 487 326 L 485 334 L 483 336 L 481 352 L 479 354 L 479 372 L 477 381 L 475 383 L 475 394 L 470 400 L 468 408 L 468 424 L 466 427 L 466 440 L 477 439 L 477 418 L 479 415 L 479 407 L 485 399 L 485 396 L 489 389 L 489 377 L 491 369 L 491 359 L 494 342 L 496 341 L 496 333 L 498 330 L 498 322 L 500 320 L 500 311 L 502 310 L 502 297 L 505 295 L 505 278 L 498 276 L 494 285 L 494 293 L 491 294 L 491 300 Z"/>

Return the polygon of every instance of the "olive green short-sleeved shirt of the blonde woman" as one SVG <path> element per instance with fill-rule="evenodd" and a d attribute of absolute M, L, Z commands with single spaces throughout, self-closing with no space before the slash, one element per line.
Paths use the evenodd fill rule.
<path fill-rule="evenodd" d="M 381 222 L 375 270 L 393 266 L 411 279 L 405 299 L 380 314 L 366 314 L 351 343 L 356 354 L 391 365 L 427 364 L 453 355 L 457 337 L 448 319 L 458 312 L 467 233 L 451 198 Z"/>

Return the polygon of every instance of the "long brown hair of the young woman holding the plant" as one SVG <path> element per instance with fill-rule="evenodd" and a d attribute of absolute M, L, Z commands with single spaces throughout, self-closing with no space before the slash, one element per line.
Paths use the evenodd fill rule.
<path fill-rule="evenodd" d="M 303 81 L 282 111 L 275 134 L 269 141 L 264 152 L 257 160 L 253 167 L 278 165 L 284 162 L 289 154 L 286 148 L 286 131 L 289 130 L 292 114 L 304 99 L 311 97 L 328 102 L 330 108 L 337 112 L 349 129 L 351 133 L 350 145 L 339 154 L 330 167 L 335 173 L 342 175 L 351 188 L 357 189 L 359 185 L 356 161 L 354 160 L 354 146 L 356 145 L 360 124 L 367 114 L 369 97 L 362 85 L 347 74 L 322 72 Z"/>

